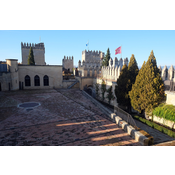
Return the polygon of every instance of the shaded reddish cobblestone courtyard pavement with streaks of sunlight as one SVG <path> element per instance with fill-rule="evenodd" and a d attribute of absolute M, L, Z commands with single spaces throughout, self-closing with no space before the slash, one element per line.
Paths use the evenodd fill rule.
<path fill-rule="evenodd" d="M 24 102 L 40 106 L 18 108 Z M 78 89 L 0 94 L 1 146 L 141 146 Z"/>

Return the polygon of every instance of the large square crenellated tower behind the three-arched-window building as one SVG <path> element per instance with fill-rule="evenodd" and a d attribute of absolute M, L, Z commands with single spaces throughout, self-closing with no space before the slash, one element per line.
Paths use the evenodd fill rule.
<path fill-rule="evenodd" d="M 31 43 L 22 43 L 21 42 L 21 55 L 22 55 L 22 64 L 28 64 L 28 56 L 30 47 L 33 49 L 33 55 L 36 65 L 46 65 L 45 63 L 45 47 L 44 43 L 31 44 Z"/>

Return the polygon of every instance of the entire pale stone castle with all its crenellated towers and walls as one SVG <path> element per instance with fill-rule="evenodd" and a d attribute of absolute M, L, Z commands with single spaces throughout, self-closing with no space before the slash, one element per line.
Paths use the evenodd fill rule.
<path fill-rule="evenodd" d="M 27 65 L 30 47 L 33 48 L 35 65 Z M 22 64 L 19 64 L 17 59 L 6 59 L 6 62 L 0 62 L 0 91 L 67 88 L 77 82 L 79 82 L 80 90 L 87 86 L 95 91 L 95 85 L 100 85 L 103 79 L 106 82 L 107 89 L 112 86 L 114 93 L 122 67 L 124 64 L 128 65 L 128 58 L 118 60 L 115 57 L 114 59 L 110 58 L 109 66 L 102 67 L 104 52 L 84 50 L 82 51 L 82 60 L 78 62 L 75 79 L 64 81 L 63 68 L 69 69 L 70 72 L 73 71 L 73 56 L 64 56 L 62 65 L 46 65 L 44 43 L 21 43 L 21 52 Z M 175 91 L 175 85 L 173 84 L 175 82 L 174 67 L 171 66 L 167 69 L 165 66 L 163 69 L 161 67 L 159 69 L 166 89 Z M 171 86 L 169 86 L 170 84 Z M 112 103 L 114 101 L 116 100 L 114 99 Z"/>

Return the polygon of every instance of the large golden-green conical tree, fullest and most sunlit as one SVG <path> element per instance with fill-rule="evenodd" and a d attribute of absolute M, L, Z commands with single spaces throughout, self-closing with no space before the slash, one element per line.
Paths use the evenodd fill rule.
<path fill-rule="evenodd" d="M 164 99 L 164 84 L 153 51 L 148 61 L 143 63 L 129 96 L 135 110 L 151 115 L 152 110 Z"/>

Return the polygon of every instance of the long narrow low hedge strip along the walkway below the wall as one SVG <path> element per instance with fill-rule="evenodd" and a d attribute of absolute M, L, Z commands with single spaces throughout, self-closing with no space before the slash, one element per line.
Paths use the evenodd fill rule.
<path fill-rule="evenodd" d="M 139 117 L 139 116 L 133 116 L 133 117 L 134 117 L 135 119 L 141 121 L 142 123 L 145 123 L 145 124 L 147 124 L 148 126 L 154 128 L 154 129 L 157 129 L 157 130 L 159 130 L 160 132 L 169 135 L 170 137 L 174 137 L 174 138 L 175 138 L 175 132 L 173 132 L 172 130 L 167 129 L 167 128 L 163 127 L 163 126 L 160 126 L 160 125 L 158 125 L 158 124 L 156 124 L 156 123 L 154 123 L 154 122 L 151 122 L 151 121 L 149 121 L 149 120 L 147 120 L 147 119 L 144 119 L 144 118 L 142 118 L 142 117 Z"/>

